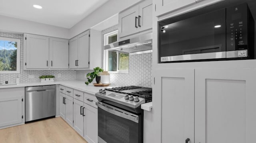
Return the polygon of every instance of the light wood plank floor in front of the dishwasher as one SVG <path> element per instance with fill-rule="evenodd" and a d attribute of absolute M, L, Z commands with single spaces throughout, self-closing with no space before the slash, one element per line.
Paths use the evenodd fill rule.
<path fill-rule="evenodd" d="M 0 129 L 0 143 L 87 143 L 61 117 Z"/>

